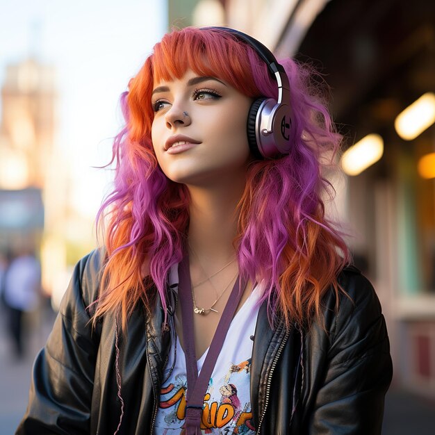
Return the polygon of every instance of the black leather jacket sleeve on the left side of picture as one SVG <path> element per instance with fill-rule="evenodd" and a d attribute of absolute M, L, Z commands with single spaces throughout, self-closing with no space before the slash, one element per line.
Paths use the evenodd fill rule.
<path fill-rule="evenodd" d="M 35 359 L 18 435 L 90 433 L 99 334 L 87 307 L 97 295 L 100 256 L 95 251 L 74 269 L 47 344 Z"/>

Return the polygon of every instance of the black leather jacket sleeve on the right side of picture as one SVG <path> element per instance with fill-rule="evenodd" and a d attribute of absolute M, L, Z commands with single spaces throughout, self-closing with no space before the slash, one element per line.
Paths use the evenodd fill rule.
<path fill-rule="evenodd" d="M 359 272 L 345 272 L 342 285 L 350 297 L 343 296 L 331 322 L 309 433 L 381 434 L 393 374 L 384 316 L 375 290 Z"/>

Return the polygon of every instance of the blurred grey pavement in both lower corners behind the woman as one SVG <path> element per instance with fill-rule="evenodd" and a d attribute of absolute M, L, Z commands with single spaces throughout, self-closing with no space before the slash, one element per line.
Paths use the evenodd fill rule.
<path fill-rule="evenodd" d="M 0 313 L 0 435 L 13 435 L 26 410 L 33 359 L 47 339 L 54 317 L 40 316 L 40 328 L 32 329 L 26 358 L 22 361 L 10 357 L 3 320 L 4 313 Z M 382 435 L 434 434 L 434 403 L 391 388 L 386 396 Z"/>

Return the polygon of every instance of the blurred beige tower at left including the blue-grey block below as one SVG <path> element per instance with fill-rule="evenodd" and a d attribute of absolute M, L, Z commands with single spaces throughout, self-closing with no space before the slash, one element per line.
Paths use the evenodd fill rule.
<path fill-rule="evenodd" d="M 0 248 L 39 250 L 42 192 L 54 143 L 54 69 L 33 59 L 9 65 L 1 88 Z"/>

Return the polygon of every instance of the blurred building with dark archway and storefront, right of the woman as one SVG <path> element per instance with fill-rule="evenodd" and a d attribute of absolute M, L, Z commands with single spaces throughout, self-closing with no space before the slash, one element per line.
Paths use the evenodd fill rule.
<path fill-rule="evenodd" d="M 180 12 L 171 9 L 172 3 L 170 24 L 171 13 Z M 206 1 L 193 3 L 186 25 L 213 24 L 192 18 Z M 435 113 L 435 3 L 213 3 L 224 10 L 225 25 L 253 35 L 278 57 L 308 60 L 325 74 L 332 88 L 331 110 L 346 138 L 344 149 L 370 135 L 360 148 L 362 160 L 369 154 L 367 141 L 375 140 L 379 161 L 347 176 L 339 208 L 352 224 L 355 261 L 383 305 L 395 381 L 435 397 L 435 126 L 429 120 L 429 126 L 407 138 L 395 128 L 397 115 L 422 95 L 428 101 L 411 126 L 425 113 L 435 117 L 430 115 Z M 188 8 L 181 13 L 188 16 Z"/>

